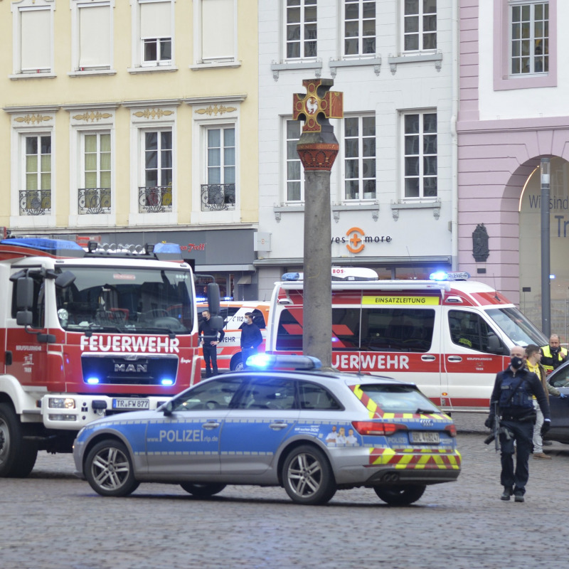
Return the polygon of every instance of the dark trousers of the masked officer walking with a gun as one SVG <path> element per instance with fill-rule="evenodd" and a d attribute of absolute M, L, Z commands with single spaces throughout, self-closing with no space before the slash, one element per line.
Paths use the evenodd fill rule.
<path fill-rule="evenodd" d="M 500 433 L 501 465 L 500 481 L 502 486 L 514 487 L 514 494 L 523 496 L 529 478 L 528 459 L 533 447 L 534 421 L 502 419 L 500 422 L 511 433 L 510 440 L 504 432 Z M 516 442 L 516 469 L 514 471 L 514 441 Z"/>

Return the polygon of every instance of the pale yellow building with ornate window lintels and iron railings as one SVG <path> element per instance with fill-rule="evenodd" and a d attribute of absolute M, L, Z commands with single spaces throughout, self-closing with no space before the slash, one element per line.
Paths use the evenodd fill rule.
<path fill-rule="evenodd" d="M 0 1 L 0 38 L 0 226 L 180 243 L 255 296 L 257 2 Z"/>

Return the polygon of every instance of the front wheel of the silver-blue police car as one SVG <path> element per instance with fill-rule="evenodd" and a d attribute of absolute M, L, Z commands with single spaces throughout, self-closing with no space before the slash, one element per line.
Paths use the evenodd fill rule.
<path fill-rule="evenodd" d="M 84 472 L 91 488 L 101 496 L 128 496 L 139 486 L 127 447 L 118 440 L 103 440 L 92 447 Z"/>

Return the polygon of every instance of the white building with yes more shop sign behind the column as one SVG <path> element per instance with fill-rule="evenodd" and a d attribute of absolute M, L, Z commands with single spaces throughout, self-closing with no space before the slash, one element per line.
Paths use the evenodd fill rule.
<path fill-rule="evenodd" d="M 333 78 L 334 265 L 423 277 L 456 265 L 457 13 L 442 0 L 259 1 L 259 297 L 303 262 L 292 95 Z"/>

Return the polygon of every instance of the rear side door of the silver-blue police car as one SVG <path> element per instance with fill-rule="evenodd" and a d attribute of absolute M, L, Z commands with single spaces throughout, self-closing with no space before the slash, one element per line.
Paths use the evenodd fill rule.
<path fill-rule="evenodd" d="M 225 418 L 220 440 L 222 474 L 263 474 L 299 417 L 292 378 L 255 374 L 237 408 Z"/>

